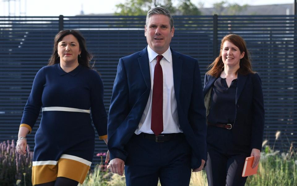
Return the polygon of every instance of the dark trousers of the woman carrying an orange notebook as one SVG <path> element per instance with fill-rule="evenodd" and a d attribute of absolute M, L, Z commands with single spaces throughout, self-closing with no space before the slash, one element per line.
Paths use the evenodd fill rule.
<path fill-rule="evenodd" d="M 228 129 L 209 126 L 207 135 L 208 145 L 205 171 L 208 185 L 244 186 L 247 177 L 242 177 L 241 175 L 245 158 L 251 155 L 250 152 L 243 152 L 234 148 L 231 131 Z M 216 139 L 213 140 L 213 138 Z"/>

